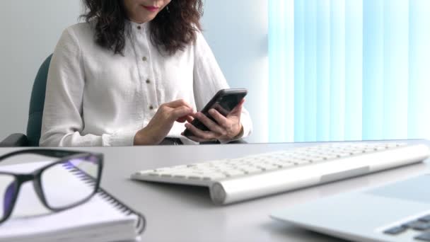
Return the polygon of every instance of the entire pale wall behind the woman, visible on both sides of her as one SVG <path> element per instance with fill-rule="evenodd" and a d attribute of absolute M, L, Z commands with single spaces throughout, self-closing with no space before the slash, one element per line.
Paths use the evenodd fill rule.
<path fill-rule="evenodd" d="M 248 88 L 245 107 L 255 131 L 249 142 L 267 142 L 267 1 L 206 0 L 204 35 L 232 87 Z M 0 139 L 25 133 L 37 69 L 62 30 L 77 23 L 81 1 L 0 1 Z"/>

